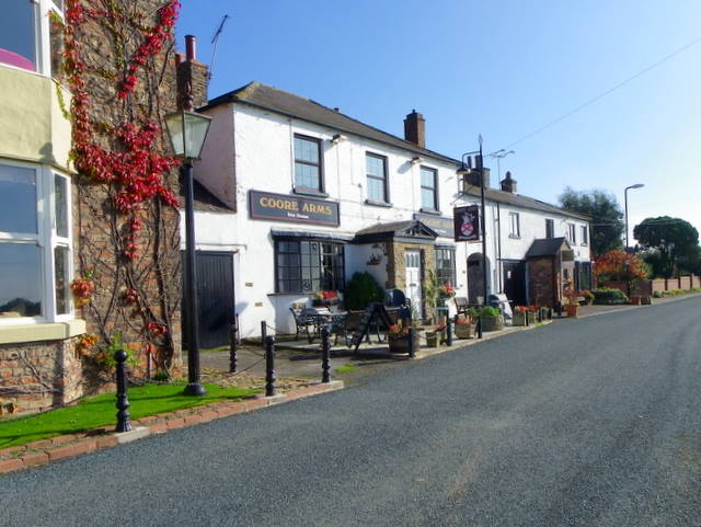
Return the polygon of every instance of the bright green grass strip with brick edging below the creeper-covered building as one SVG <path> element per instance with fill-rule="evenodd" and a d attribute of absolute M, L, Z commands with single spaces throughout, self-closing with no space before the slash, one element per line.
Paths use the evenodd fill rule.
<path fill-rule="evenodd" d="M 260 391 L 205 385 L 207 394 L 195 398 L 184 396 L 183 388 L 184 386 L 174 385 L 147 385 L 129 388 L 131 419 L 173 412 L 216 401 L 238 400 Z M 74 434 L 100 426 L 115 425 L 117 410 L 114 404 L 115 394 L 105 393 L 85 399 L 74 406 L 0 421 L 0 448 L 23 445 L 57 435 Z"/>

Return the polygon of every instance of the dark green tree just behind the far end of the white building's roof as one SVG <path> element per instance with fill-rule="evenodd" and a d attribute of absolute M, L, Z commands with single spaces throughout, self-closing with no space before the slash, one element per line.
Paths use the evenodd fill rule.
<path fill-rule="evenodd" d="M 575 191 L 567 186 L 560 195 L 560 205 L 591 218 L 591 251 L 595 256 L 623 248 L 623 213 L 613 194 L 600 190 Z"/>

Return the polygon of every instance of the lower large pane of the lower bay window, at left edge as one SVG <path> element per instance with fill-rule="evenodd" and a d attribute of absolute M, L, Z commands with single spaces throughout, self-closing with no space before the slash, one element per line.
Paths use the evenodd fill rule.
<path fill-rule="evenodd" d="M 26 243 L 0 243 L 0 317 L 42 313 L 41 251 Z"/>

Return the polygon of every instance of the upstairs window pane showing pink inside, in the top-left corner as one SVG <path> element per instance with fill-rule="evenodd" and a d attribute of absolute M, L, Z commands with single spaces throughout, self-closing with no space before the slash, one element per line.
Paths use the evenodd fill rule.
<path fill-rule="evenodd" d="M 0 62 L 36 70 L 34 5 L 28 0 L 3 0 L 0 16 Z"/>

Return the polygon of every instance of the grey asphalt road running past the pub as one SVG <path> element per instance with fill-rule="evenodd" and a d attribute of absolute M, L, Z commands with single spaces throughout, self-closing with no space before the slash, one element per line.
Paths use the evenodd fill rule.
<path fill-rule="evenodd" d="M 2 526 L 699 526 L 701 298 L 0 477 Z"/>

